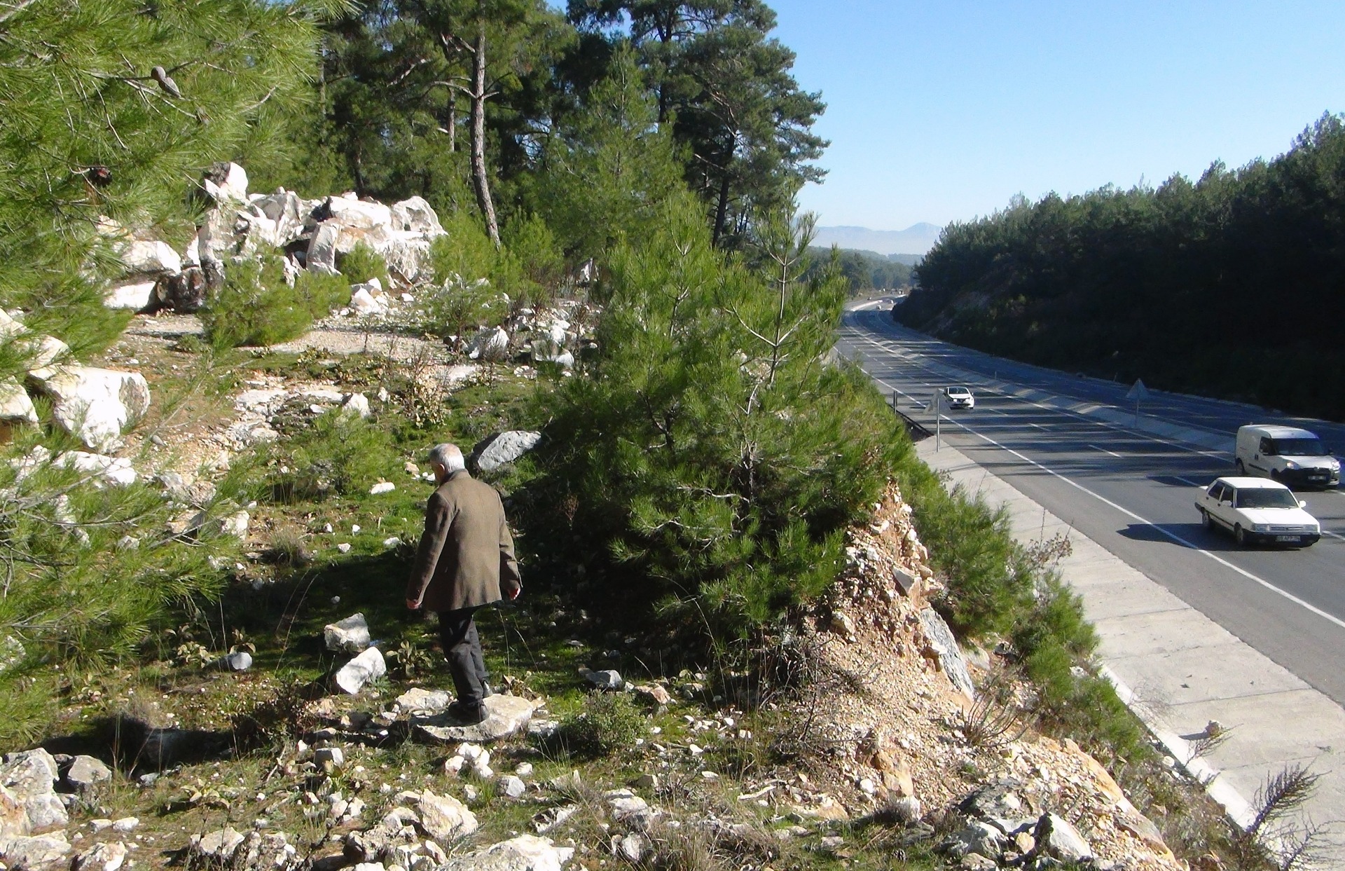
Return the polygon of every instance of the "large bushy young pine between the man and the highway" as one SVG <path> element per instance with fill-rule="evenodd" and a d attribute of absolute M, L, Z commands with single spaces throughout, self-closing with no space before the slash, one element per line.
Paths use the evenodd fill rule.
<path fill-rule="evenodd" d="M 779 281 L 717 252 L 695 203 L 662 225 L 612 258 L 592 377 L 541 397 L 537 503 L 574 505 L 546 549 L 594 604 L 725 639 L 835 578 L 911 443 L 862 372 L 820 362 L 845 287 L 795 280 L 807 233 L 764 222 Z"/>

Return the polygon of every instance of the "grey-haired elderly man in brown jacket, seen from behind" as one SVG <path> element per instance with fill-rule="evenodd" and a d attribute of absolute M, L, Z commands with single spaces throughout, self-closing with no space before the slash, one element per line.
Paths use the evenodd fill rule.
<path fill-rule="evenodd" d="M 523 584 L 514 538 L 495 487 L 467 474 L 456 444 L 436 444 L 425 460 L 438 489 L 425 508 L 425 533 L 406 584 L 406 607 L 438 613 L 440 641 L 457 701 L 448 713 L 467 723 L 486 719 L 486 662 L 472 619 L 476 610 L 516 599 Z"/>

